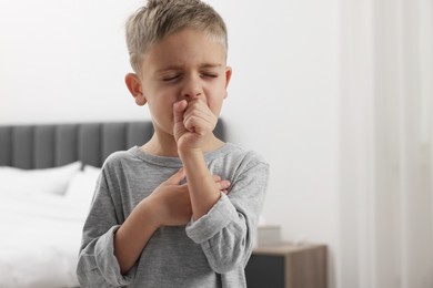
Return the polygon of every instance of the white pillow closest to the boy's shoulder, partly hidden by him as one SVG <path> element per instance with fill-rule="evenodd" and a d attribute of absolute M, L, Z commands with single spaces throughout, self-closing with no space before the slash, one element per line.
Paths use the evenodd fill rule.
<path fill-rule="evenodd" d="M 100 173 L 100 168 L 85 165 L 84 169 L 77 173 L 69 183 L 64 197 L 72 202 L 90 205 Z"/>

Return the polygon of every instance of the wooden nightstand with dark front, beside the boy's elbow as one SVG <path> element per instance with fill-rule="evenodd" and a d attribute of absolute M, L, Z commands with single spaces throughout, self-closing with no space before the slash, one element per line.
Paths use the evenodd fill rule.
<path fill-rule="evenodd" d="M 256 247 L 245 268 L 249 288 L 326 288 L 326 246 Z"/>

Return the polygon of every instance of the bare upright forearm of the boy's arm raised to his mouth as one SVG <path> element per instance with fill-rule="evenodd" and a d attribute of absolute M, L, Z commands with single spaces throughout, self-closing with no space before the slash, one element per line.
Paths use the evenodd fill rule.
<path fill-rule="evenodd" d="M 221 191 L 215 185 L 201 151 L 180 152 L 179 155 L 188 178 L 192 217 L 197 220 L 215 205 Z"/>

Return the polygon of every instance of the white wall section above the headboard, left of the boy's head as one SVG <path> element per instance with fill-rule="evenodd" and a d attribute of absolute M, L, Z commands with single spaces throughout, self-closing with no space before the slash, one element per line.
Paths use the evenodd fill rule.
<path fill-rule="evenodd" d="M 147 116 L 123 84 L 123 22 L 138 3 L 0 0 L 0 122 Z"/>

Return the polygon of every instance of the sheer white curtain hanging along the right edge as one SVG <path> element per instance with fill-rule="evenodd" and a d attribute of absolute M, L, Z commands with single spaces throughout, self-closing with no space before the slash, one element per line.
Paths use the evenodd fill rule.
<path fill-rule="evenodd" d="M 433 287 L 433 1 L 341 1 L 340 288 Z"/>

